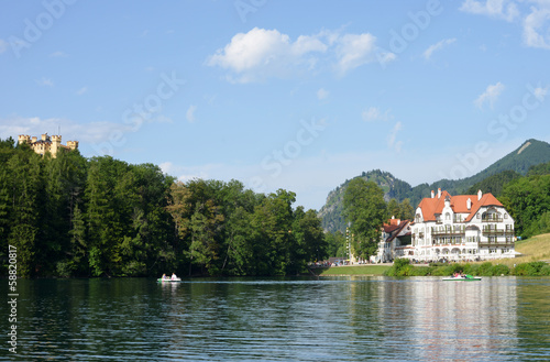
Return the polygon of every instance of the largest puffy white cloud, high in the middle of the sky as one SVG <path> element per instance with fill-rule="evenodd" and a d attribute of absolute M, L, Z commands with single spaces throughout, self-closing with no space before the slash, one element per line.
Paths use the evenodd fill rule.
<path fill-rule="evenodd" d="M 395 59 L 393 53 L 381 54 L 375 42 L 376 37 L 369 33 L 341 35 L 331 31 L 299 35 L 293 42 L 277 30 L 254 28 L 234 35 L 207 58 L 207 65 L 229 70 L 228 80 L 235 83 L 288 77 L 331 66 L 343 75 L 366 63 Z"/>

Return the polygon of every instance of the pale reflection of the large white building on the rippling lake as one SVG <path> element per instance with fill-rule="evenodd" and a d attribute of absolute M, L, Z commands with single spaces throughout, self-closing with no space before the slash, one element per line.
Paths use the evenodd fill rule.
<path fill-rule="evenodd" d="M 507 283 L 508 282 L 508 283 Z M 404 285 L 403 285 L 404 284 Z M 410 289 L 410 290 L 404 290 Z M 440 282 L 410 279 L 389 284 L 388 328 L 414 347 L 418 360 L 499 360 L 517 344 L 517 296 L 514 279 Z M 405 306 L 405 307 L 403 307 Z M 400 309 L 400 312 L 394 312 Z M 398 322 L 397 318 L 403 321 Z"/>

